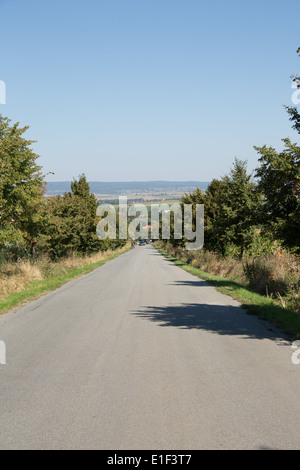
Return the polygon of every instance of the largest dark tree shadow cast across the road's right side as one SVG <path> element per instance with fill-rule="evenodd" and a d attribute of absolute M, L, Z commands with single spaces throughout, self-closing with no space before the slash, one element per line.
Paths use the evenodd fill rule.
<path fill-rule="evenodd" d="M 132 312 L 160 327 L 205 330 L 210 333 L 240 336 L 244 339 L 284 339 L 267 325 L 249 316 L 241 307 L 209 304 L 180 304 L 165 307 L 145 306 Z"/>

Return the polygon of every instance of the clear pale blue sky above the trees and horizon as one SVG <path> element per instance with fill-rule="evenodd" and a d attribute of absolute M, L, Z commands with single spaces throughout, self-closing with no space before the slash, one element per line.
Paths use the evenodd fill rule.
<path fill-rule="evenodd" d="M 0 113 L 49 181 L 197 180 L 299 135 L 299 0 L 0 0 Z"/>

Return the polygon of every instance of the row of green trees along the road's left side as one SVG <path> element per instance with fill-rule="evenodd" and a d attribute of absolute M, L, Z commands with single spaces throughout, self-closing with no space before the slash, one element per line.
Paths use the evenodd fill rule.
<path fill-rule="evenodd" d="M 118 248 L 99 240 L 98 202 L 84 175 L 63 196 L 45 198 L 45 175 L 24 133 L 0 115 L 0 251 L 19 258 L 47 253 L 52 259 Z"/>

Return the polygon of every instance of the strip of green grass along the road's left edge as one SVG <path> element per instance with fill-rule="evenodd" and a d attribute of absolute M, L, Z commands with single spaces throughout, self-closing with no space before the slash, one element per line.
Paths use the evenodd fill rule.
<path fill-rule="evenodd" d="M 25 302 L 35 300 L 44 294 L 52 292 L 73 279 L 77 279 L 78 277 L 90 273 L 108 261 L 126 253 L 129 249 L 130 248 L 125 248 L 121 252 L 114 253 L 96 263 L 91 263 L 80 268 L 70 268 L 62 275 L 50 276 L 43 280 L 32 281 L 21 292 L 10 294 L 0 301 L 0 315 L 22 305 Z"/>

